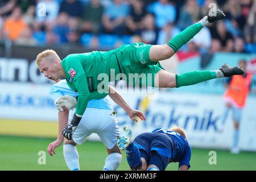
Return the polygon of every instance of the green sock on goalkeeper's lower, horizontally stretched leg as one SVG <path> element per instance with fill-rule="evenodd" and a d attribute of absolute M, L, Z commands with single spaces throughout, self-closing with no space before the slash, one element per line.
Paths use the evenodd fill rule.
<path fill-rule="evenodd" d="M 176 88 L 216 78 L 216 71 L 194 71 L 176 75 Z"/>

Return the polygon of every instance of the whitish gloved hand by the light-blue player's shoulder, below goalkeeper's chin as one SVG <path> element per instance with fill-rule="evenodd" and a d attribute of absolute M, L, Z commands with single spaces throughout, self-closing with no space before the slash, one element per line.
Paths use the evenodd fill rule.
<path fill-rule="evenodd" d="M 67 107 L 68 110 L 71 110 L 74 107 L 76 107 L 76 104 L 77 104 L 76 98 L 71 96 L 61 96 L 56 102 L 56 107 L 57 107 L 57 110 L 63 112 L 64 111 L 63 107 Z"/>

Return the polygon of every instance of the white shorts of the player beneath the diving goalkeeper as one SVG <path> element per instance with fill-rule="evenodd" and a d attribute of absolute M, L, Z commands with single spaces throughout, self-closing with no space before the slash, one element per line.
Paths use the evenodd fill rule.
<path fill-rule="evenodd" d="M 87 107 L 76 131 L 73 133 L 73 141 L 82 144 L 86 137 L 96 133 L 107 148 L 113 148 L 117 143 L 119 130 L 117 118 L 110 115 L 112 112 L 113 110 Z"/>

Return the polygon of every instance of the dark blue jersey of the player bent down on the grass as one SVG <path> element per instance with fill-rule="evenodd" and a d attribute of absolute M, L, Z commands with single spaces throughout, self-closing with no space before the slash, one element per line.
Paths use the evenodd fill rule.
<path fill-rule="evenodd" d="M 184 164 L 188 165 L 188 168 L 190 167 L 191 147 L 189 146 L 187 139 L 175 131 L 162 128 L 155 129 L 152 133 L 166 134 L 171 138 L 172 156 L 170 162 L 179 162 L 179 167 Z"/>

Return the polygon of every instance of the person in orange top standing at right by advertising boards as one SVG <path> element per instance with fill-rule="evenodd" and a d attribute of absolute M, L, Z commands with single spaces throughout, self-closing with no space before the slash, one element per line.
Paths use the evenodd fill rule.
<path fill-rule="evenodd" d="M 226 103 L 226 109 L 224 111 L 219 130 L 222 132 L 229 110 L 232 110 L 232 117 L 234 121 L 233 144 L 230 150 L 232 154 L 238 154 L 240 152 L 240 149 L 238 148 L 239 125 L 242 118 L 242 109 L 245 107 L 246 98 L 250 92 L 252 78 L 251 73 L 246 72 L 245 60 L 240 60 L 239 66 L 245 71 L 245 73 L 243 75 L 229 77 L 225 84 L 226 92 L 224 94 L 224 101 Z"/>

